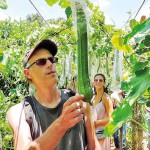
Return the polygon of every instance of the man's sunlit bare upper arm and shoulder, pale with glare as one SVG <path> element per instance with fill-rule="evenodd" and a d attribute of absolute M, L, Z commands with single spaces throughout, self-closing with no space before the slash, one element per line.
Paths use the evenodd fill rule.
<path fill-rule="evenodd" d="M 8 122 L 14 134 L 14 147 L 16 150 L 25 149 L 31 141 L 30 127 L 25 121 L 23 105 L 21 103 L 13 106 L 7 112 Z"/>

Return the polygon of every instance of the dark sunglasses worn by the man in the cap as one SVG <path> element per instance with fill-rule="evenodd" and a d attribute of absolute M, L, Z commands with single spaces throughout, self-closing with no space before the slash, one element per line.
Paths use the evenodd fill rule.
<path fill-rule="evenodd" d="M 52 64 L 58 62 L 57 57 L 40 58 L 40 59 L 36 60 L 35 62 L 33 62 L 29 67 L 27 67 L 27 69 L 29 69 L 34 64 L 36 64 L 37 66 L 44 66 L 46 64 L 47 60 L 49 60 Z"/>

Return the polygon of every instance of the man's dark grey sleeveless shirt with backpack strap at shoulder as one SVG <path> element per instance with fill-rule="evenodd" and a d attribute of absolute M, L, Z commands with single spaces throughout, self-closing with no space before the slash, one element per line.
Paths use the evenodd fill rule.
<path fill-rule="evenodd" d="M 30 125 L 33 140 L 45 132 L 50 124 L 60 116 L 63 104 L 70 96 L 72 96 L 70 91 L 61 90 L 61 101 L 56 108 L 42 106 L 34 96 L 26 98 L 25 115 L 26 120 Z M 29 106 L 31 106 L 33 113 L 31 113 L 31 108 Z M 50 141 L 47 139 L 47 142 Z M 65 133 L 61 141 L 58 143 L 56 150 L 85 150 L 85 143 L 85 127 L 84 121 L 82 120 Z"/>

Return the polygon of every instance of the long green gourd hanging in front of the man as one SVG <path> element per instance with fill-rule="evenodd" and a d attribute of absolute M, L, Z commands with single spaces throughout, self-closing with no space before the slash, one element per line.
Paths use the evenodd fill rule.
<path fill-rule="evenodd" d="M 78 48 L 78 92 L 84 94 L 84 101 L 91 104 L 92 88 L 88 73 L 88 37 L 84 10 L 76 3 L 77 10 L 77 48 Z"/>

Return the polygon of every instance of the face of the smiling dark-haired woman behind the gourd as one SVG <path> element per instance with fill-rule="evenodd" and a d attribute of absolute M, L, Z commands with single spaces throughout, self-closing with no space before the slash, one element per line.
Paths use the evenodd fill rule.
<path fill-rule="evenodd" d="M 97 75 L 94 78 L 94 86 L 96 89 L 103 88 L 105 86 L 104 78 L 101 75 Z"/>

